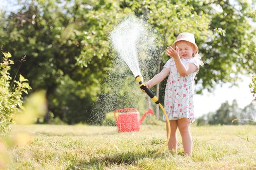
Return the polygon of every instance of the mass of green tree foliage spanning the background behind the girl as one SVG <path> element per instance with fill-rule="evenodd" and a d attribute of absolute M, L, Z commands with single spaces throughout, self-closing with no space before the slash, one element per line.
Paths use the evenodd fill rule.
<path fill-rule="evenodd" d="M 228 0 L 17 0 L 17 3 L 19 8 L 13 13 L 0 10 L 0 46 L 15 56 L 15 63 L 20 56 L 27 55 L 21 74 L 31 80 L 33 90 L 46 90 L 48 113 L 69 123 L 89 121 L 93 112 L 89 103 L 95 102 L 98 95 L 108 95 L 102 89 L 105 73 L 113 67 L 108 34 L 126 15 L 145 18 L 161 37 L 157 45 L 162 51 L 180 32 L 195 34 L 205 63 L 197 75 L 199 93 L 204 88 L 213 90 L 221 82 L 236 84 L 237 73 L 256 70 L 256 31 L 249 22 L 255 21 L 255 4 L 244 0 L 236 0 L 237 5 Z M 163 52 L 159 56 L 163 66 L 169 58 Z M 152 68 L 148 78 L 156 73 L 157 67 Z M 77 92 L 68 92 L 70 88 L 66 87 L 67 91 L 63 90 L 61 82 L 65 76 L 76 85 L 72 88 Z M 162 83 L 161 101 L 164 86 Z M 131 91 L 120 93 L 132 96 Z M 68 98 L 60 92 L 72 95 Z M 68 116 L 73 112 L 78 119 Z"/>

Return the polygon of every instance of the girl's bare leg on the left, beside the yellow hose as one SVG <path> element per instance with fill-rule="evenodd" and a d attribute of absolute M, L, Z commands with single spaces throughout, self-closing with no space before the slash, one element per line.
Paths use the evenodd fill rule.
<path fill-rule="evenodd" d="M 166 133 L 167 133 L 167 137 L 168 137 L 167 121 L 166 121 Z M 170 136 L 170 140 L 168 142 L 168 148 L 169 148 L 169 151 L 174 150 L 176 152 L 177 151 L 177 135 L 176 135 L 177 120 L 169 120 L 169 122 L 170 122 L 170 125 L 171 125 L 171 136 Z"/>

